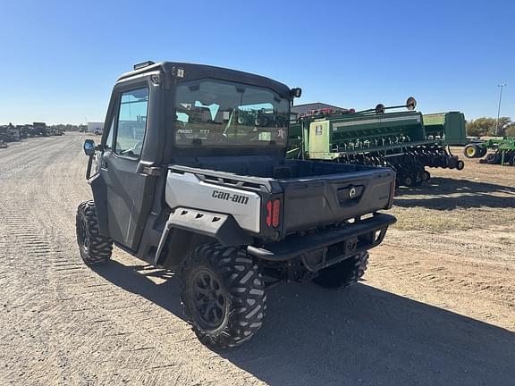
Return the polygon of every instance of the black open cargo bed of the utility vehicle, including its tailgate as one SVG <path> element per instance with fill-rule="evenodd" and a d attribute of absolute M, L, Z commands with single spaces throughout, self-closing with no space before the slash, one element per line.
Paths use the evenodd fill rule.
<path fill-rule="evenodd" d="M 190 161 L 170 165 L 169 177 L 190 173 L 205 188 L 247 190 L 258 193 L 262 200 L 279 197 L 283 237 L 392 206 L 395 173 L 390 168 L 263 156 Z M 201 197 L 195 197 L 196 192 L 190 194 L 196 208 L 211 209 Z"/>

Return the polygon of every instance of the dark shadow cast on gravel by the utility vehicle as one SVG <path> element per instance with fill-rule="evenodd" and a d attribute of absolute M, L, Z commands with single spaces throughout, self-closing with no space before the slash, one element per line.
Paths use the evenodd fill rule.
<path fill-rule="evenodd" d="M 172 273 L 115 261 L 96 271 L 182 318 Z M 343 292 L 289 284 L 270 290 L 268 299 L 258 335 L 219 354 L 271 385 L 512 385 L 515 379 L 513 332 L 442 308 L 364 284 Z"/>

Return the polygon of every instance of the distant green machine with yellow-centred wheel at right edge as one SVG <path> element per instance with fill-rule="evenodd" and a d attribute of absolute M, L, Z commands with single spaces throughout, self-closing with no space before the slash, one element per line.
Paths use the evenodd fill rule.
<path fill-rule="evenodd" d="M 493 150 L 488 153 L 488 150 Z M 515 138 L 486 139 L 469 143 L 463 153 L 467 158 L 485 158 L 481 164 L 511 164 L 515 166 Z M 488 154 L 487 154 L 488 153 Z"/>

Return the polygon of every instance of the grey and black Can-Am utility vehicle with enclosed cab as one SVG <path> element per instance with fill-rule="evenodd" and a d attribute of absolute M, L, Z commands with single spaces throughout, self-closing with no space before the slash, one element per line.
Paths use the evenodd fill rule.
<path fill-rule="evenodd" d="M 80 204 L 86 264 L 113 245 L 181 275 L 198 339 L 249 340 L 266 287 L 349 286 L 395 222 L 389 168 L 285 159 L 300 88 L 190 63 L 141 63 L 116 82 L 101 143 L 87 139 L 93 200 Z"/>

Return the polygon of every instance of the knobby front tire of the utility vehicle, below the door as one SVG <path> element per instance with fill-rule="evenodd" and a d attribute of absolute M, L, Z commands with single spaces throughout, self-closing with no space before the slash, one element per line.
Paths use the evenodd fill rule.
<path fill-rule="evenodd" d="M 80 257 L 84 263 L 106 264 L 113 252 L 113 240 L 101 236 L 98 232 L 97 209 L 93 200 L 80 204 L 75 223 Z"/>

